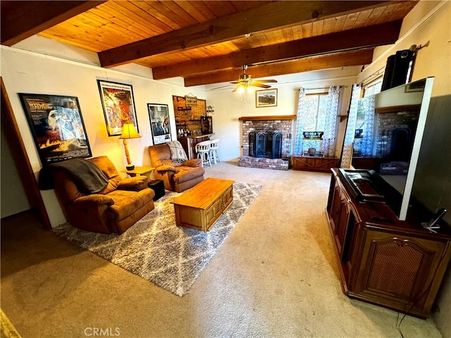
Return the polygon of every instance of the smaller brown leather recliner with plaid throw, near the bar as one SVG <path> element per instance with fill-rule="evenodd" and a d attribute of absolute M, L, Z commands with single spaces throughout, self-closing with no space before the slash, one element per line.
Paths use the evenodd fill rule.
<path fill-rule="evenodd" d="M 155 179 L 163 180 L 164 188 L 171 192 L 183 192 L 204 180 L 202 160 L 194 158 L 181 163 L 175 162 L 171 159 L 168 144 L 149 146 L 149 156 L 152 167 L 155 167 Z"/>

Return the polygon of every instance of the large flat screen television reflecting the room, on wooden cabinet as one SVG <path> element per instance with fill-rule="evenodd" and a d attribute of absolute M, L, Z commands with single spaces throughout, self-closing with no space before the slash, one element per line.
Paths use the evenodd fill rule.
<path fill-rule="evenodd" d="M 388 205 L 406 220 L 428 116 L 433 77 L 366 96 L 357 108 L 354 158 L 378 159 L 376 173 L 399 193 Z M 356 148 L 358 144 L 358 149 Z"/>

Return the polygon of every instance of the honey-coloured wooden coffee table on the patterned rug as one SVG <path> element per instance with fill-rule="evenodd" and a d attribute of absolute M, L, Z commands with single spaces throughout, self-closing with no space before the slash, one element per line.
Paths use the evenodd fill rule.
<path fill-rule="evenodd" d="M 207 178 L 173 199 L 175 224 L 209 231 L 233 202 L 233 182 Z"/>

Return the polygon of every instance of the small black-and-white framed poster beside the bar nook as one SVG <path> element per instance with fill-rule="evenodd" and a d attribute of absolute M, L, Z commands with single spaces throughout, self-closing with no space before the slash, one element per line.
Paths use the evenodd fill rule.
<path fill-rule="evenodd" d="M 147 110 L 149 111 L 149 120 L 154 144 L 163 144 L 172 141 L 168 105 L 147 104 Z"/>

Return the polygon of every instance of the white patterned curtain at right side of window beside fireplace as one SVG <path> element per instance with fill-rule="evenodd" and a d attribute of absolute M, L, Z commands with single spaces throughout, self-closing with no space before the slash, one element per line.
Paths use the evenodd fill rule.
<path fill-rule="evenodd" d="M 338 114 L 338 99 L 340 98 L 340 87 L 331 86 L 328 94 L 326 111 L 326 122 L 324 124 L 323 143 L 321 150 L 323 156 L 335 156 L 335 124 Z"/>

